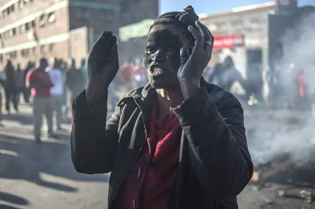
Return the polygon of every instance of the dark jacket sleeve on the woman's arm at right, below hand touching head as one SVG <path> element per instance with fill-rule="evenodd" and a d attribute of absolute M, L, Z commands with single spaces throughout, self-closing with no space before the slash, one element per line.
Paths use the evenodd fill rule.
<path fill-rule="evenodd" d="M 189 142 L 189 159 L 198 182 L 218 199 L 238 195 L 252 178 L 253 164 L 243 108 L 230 93 L 215 96 L 198 89 L 173 109 Z"/>

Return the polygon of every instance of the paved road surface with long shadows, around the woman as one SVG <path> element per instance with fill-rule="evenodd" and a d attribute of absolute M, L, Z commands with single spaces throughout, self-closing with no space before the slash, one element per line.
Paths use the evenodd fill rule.
<path fill-rule="evenodd" d="M 0 127 L 0 209 L 106 209 L 108 176 L 83 175 L 73 169 L 70 125 L 57 132 L 60 139 L 44 136 L 38 145 L 32 137 L 31 113 L 22 104 L 20 114 L 5 116 Z M 238 198 L 240 209 L 261 208 L 266 198 L 276 197 L 275 191 L 248 186 Z"/>

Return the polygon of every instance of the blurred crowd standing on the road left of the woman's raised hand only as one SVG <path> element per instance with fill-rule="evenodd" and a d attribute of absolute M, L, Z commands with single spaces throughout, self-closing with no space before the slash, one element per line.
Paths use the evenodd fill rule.
<path fill-rule="evenodd" d="M 56 129 L 62 130 L 62 123 L 68 118 L 69 100 L 73 100 L 87 84 L 86 63 L 76 68 L 74 59 L 67 62 L 60 58 L 42 58 L 38 65 L 28 62 L 25 69 L 10 59 L 0 73 L 0 82 L 5 94 L 5 112 L 11 114 L 10 104 L 19 112 L 20 98 L 32 104 L 34 117 L 34 137 L 41 141 L 42 115 L 46 116 L 49 137 L 57 138 L 53 129 L 53 113 L 56 115 Z M 0 91 L 0 98 L 1 97 Z M 2 104 L 0 102 L 0 104 Z M 2 113 L 0 111 L 0 113 Z M 1 119 L 2 119 L 2 114 Z"/>

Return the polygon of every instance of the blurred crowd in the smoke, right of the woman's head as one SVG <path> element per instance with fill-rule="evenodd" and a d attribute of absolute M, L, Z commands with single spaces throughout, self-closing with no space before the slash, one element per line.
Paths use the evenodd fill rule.
<path fill-rule="evenodd" d="M 291 64 L 292 69 L 289 73 L 286 73 L 286 69 L 281 69 L 279 65 L 266 73 L 265 80 L 269 87 L 266 102 L 270 107 L 310 108 L 311 95 L 308 91 L 305 72 L 293 66 Z M 226 91 L 231 91 L 232 84 L 238 81 L 246 92 L 245 99 L 255 97 L 262 101 L 263 73 L 261 70 L 255 72 L 257 72 L 257 76 L 244 79 L 232 58 L 228 56 L 222 63 L 218 62 L 212 68 L 207 67 L 203 77 L 209 83 L 216 84 Z M 286 83 L 290 84 L 289 88 Z M 242 100 L 237 93 L 232 93 Z"/>

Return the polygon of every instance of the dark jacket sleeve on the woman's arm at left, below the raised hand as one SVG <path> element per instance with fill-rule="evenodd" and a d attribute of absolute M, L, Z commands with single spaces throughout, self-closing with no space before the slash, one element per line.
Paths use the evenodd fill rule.
<path fill-rule="evenodd" d="M 112 170 L 118 145 L 120 108 L 106 122 L 107 95 L 90 111 L 84 109 L 85 90 L 74 100 L 71 159 L 79 173 L 102 174 Z"/>

